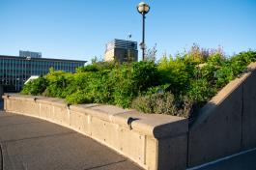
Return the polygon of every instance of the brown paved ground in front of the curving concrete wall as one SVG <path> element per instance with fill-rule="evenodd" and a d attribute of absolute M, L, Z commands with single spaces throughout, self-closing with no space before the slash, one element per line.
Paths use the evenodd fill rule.
<path fill-rule="evenodd" d="M 69 128 L 12 113 L 0 112 L 0 146 L 1 170 L 141 170 Z"/>

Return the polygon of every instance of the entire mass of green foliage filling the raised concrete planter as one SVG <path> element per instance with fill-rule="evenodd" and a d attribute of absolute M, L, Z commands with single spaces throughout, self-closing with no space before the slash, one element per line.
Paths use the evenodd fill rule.
<path fill-rule="evenodd" d="M 222 50 L 192 46 L 185 54 L 163 56 L 156 64 L 93 62 L 73 74 L 51 69 L 27 83 L 21 93 L 189 117 L 255 61 L 256 52 L 251 50 L 225 57 Z"/>

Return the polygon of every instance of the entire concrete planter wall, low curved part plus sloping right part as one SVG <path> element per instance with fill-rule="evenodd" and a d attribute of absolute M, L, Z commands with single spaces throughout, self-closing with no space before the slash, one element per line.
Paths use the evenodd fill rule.
<path fill-rule="evenodd" d="M 256 147 L 256 63 L 187 119 L 111 105 L 6 95 L 7 111 L 72 128 L 148 170 L 179 170 Z"/>

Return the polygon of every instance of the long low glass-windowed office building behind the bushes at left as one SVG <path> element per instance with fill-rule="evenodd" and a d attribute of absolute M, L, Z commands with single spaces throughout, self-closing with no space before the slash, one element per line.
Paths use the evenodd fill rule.
<path fill-rule="evenodd" d="M 32 75 L 46 74 L 50 68 L 56 71 L 75 72 L 86 61 L 61 60 L 0 55 L 0 86 L 5 92 L 18 92 Z"/>

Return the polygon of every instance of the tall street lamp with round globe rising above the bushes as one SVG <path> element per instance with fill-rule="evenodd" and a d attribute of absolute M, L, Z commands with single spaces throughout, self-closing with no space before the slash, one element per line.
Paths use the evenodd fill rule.
<path fill-rule="evenodd" d="M 140 48 L 142 49 L 142 60 L 145 59 L 145 14 L 149 13 L 150 6 L 146 4 L 145 2 L 139 3 L 137 6 L 137 10 L 139 14 L 142 14 L 142 42 L 140 43 Z"/>

